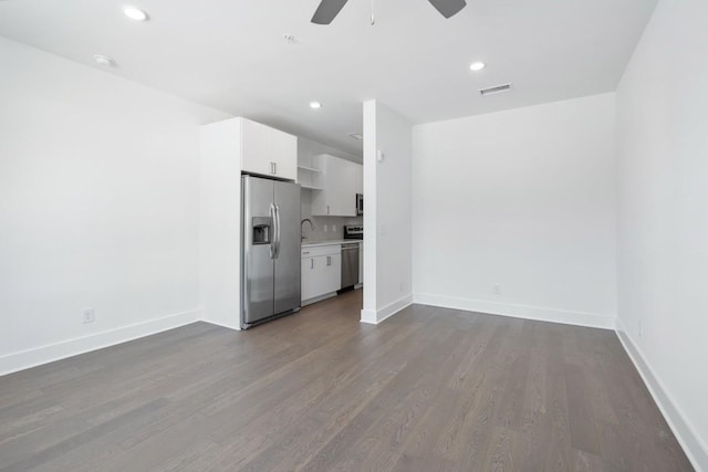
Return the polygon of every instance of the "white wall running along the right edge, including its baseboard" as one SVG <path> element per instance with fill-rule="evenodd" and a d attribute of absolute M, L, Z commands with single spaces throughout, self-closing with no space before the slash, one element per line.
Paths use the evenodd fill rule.
<path fill-rule="evenodd" d="M 617 136 L 620 329 L 708 471 L 706 24 L 706 1 L 659 2 L 617 90 Z"/>

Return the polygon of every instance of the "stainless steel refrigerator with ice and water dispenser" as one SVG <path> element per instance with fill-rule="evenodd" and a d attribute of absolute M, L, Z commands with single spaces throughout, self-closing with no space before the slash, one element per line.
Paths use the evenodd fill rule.
<path fill-rule="evenodd" d="M 242 176 L 241 328 L 300 310 L 300 186 Z"/>

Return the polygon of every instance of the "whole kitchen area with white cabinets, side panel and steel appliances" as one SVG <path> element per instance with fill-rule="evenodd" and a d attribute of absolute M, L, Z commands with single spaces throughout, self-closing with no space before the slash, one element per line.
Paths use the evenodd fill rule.
<path fill-rule="evenodd" d="M 242 117 L 200 147 L 205 312 L 248 329 L 363 287 L 361 155 Z"/>

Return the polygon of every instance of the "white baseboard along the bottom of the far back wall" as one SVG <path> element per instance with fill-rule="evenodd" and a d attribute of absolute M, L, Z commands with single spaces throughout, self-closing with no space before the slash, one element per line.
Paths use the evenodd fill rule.
<path fill-rule="evenodd" d="M 442 308 L 464 310 L 467 312 L 488 313 L 490 315 L 511 316 L 514 318 L 589 326 L 603 329 L 614 329 L 616 319 L 614 316 L 605 316 L 594 313 L 488 302 L 485 300 L 458 298 L 428 293 L 414 294 L 414 303 L 439 306 Z"/>

